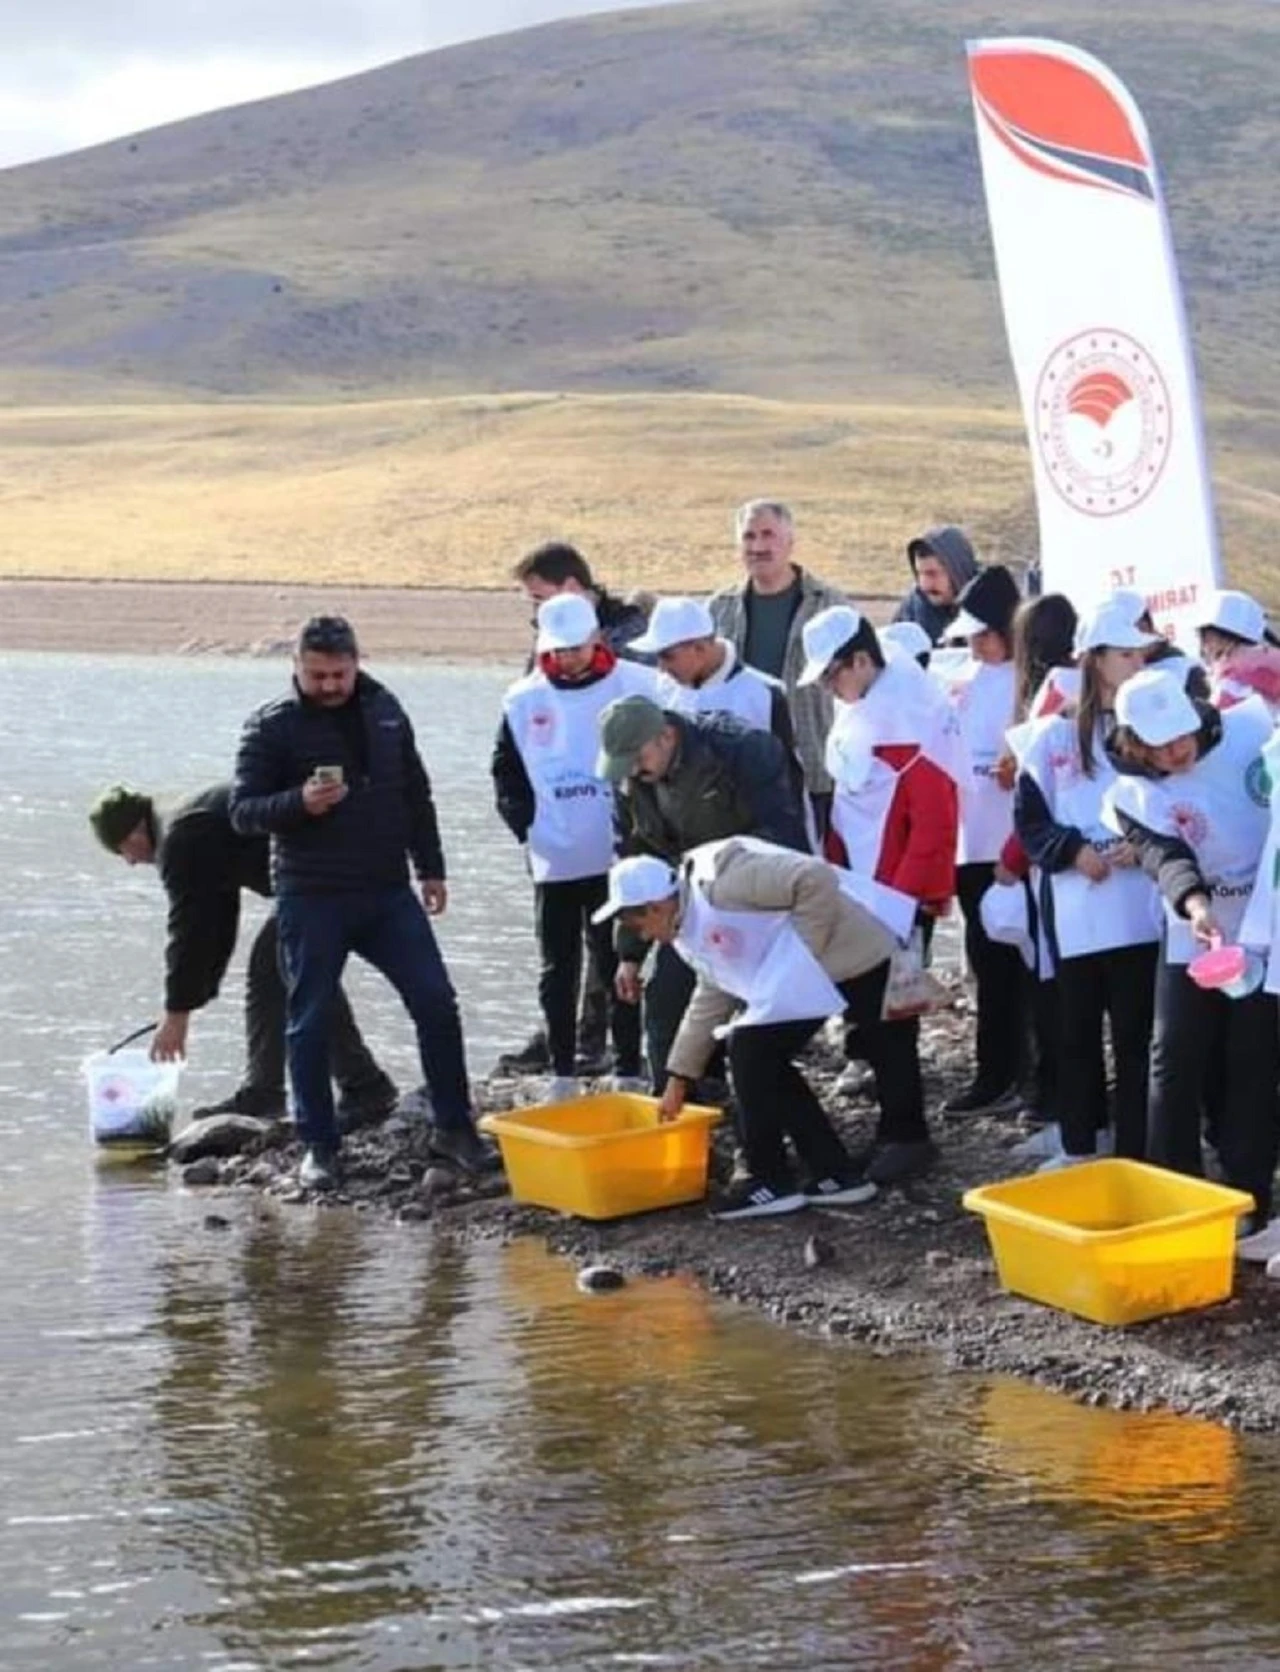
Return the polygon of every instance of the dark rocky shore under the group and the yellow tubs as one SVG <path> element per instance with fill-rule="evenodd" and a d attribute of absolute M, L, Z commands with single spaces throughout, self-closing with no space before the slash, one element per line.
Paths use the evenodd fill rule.
<path fill-rule="evenodd" d="M 959 1083 L 969 1030 L 961 991 L 926 1023 L 926 1075 L 936 1104 Z M 842 1067 L 830 1047 L 814 1047 L 809 1072 L 857 1144 L 871 1137 L 874 1112 L 869 1097 L 836 1090 Z M 480 1105 L 510 1109 L 531 1095 L 516 1080 L 491 1078 L 480 1088 Z M 1011 1150 L 1024 1135 L 1008 1119 L 939 1119 L 939 1167 L 857 1209 L 722 1226 L 702 1207 L 685 1207 L 593 1224 L 516 1206 L 498 1179 L 480 1185 L 458 1179 L 431 1162 L 421 1122 L 394 1119 L 348 1139 L 346 1182 L 329 1200 L 391 1214 L 414 1232 L 421 1224 L 423 1234 L 540 1236 L 580 1266 L 688 1272 L 715 1294 L 799 1329 L 882 1354 L 927 1353 L 939 1366 L 1023 1376 L 1088 1404 L 1280 1430 L 1280 1291 L 1260 1267 L 1238 1266 L 1235 1294 L 1222 1306 L 1126 1329 L 1103 1329 L 999 1289 L 986 1232 L 964 1212 L 961 1195 L 1021 1170 Z M 247 1127 L 226 1144 L 244 1147 L 187 1160 L 184 1182 L 307 1200 L 294 1182 L 297 1145 L 287 1129 Z M 714 1159 L 720 1174 L 729 1169 L 729 1150 L 722 1125 Z M 179 1142 L 175 1164 L 182 1154 Z M 209 1222 L 216 1226 L 217 1216 Z"/>

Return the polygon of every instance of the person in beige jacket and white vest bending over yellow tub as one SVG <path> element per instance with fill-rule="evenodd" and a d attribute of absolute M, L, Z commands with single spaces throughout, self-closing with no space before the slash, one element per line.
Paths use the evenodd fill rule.
<path fill-rule="evenodd" d="M 613 866 L 597 916 L 618 916 L 642 940 L 672 946 L 697 975 L 667 1058 L 663 1119 L 680 1114 L 727 1025 L 747 1177 L 714 1204 L 714 1217 L 869 1200 L 876 1185 L 795 1065 L 827 1017 L 849 1010 L 879 1020 L 889 980 L 892 936 L 841 891 L 834 866 L 749 836 L 693 848 L 678 871 L 638 854 Z"/>

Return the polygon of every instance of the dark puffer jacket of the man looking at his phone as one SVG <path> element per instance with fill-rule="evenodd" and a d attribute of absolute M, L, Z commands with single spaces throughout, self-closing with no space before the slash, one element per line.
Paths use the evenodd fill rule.
<path fill-rule="evenodd" d="M 311 818 L 302 784 L 317 766 L 341 766 L 348 794 Z M 413 726 L 368 674 L 358 675 L 341 711 L 311 702 L 294 686 L 249 716 L 236 757 L 231 821 L 242 836 L 271 836 L 276 895 L 403 886 L 406 854 L 419 878 L 444 876 L 431 782 Z"/>

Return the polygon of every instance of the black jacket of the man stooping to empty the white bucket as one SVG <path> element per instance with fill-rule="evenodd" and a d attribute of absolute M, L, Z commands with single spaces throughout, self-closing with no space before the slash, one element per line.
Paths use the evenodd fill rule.
<path fill-rule="evenodd" d="M 271 893 L 266 836 L 231 828 L 231 784 L 214 784 L 159 821 L 155 864 L 169 896 L 165 1010 L 201 1010 L 227 971 L 241 923 L 241 890 Z"/>

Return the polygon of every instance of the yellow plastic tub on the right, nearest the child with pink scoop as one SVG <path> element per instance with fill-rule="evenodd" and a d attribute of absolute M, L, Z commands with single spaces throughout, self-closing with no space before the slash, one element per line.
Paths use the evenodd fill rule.
<path fill-rule="evenodd" d="M 1090 1160 L 968 1190 L 1014 1294 L 1136 1324 L 1225 1301 L 1253 1197 L 1140 1160 Z"/>

